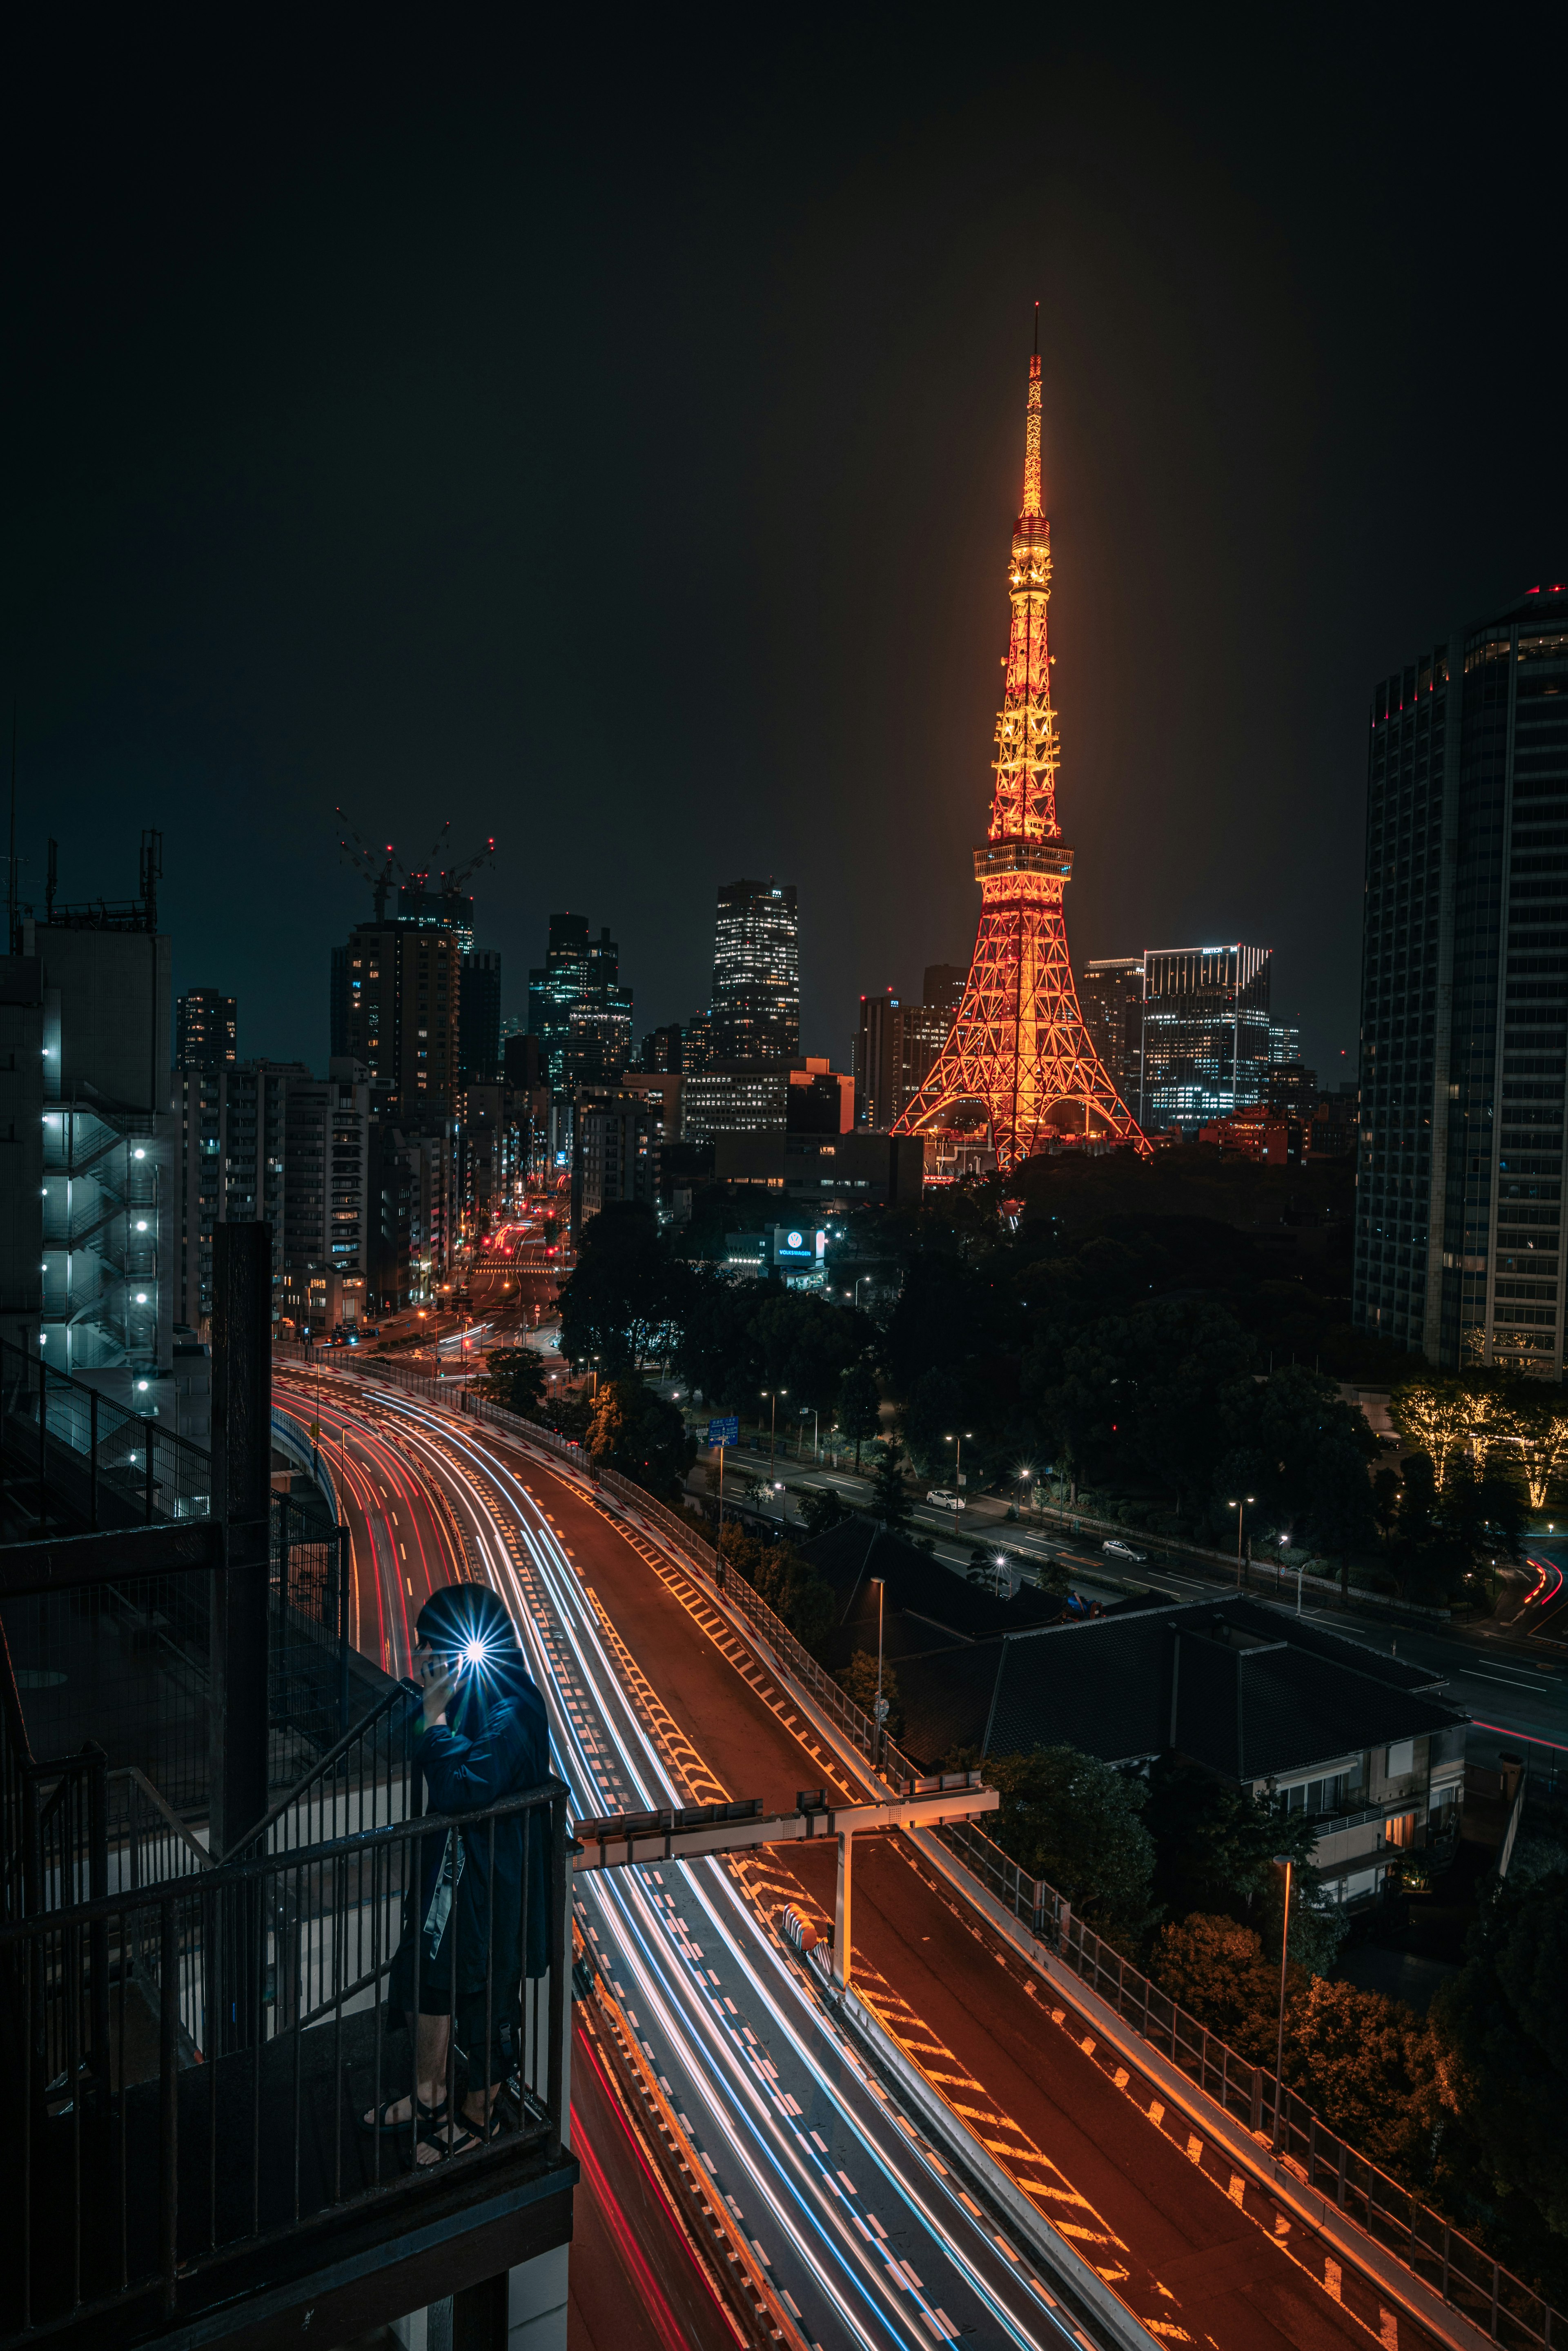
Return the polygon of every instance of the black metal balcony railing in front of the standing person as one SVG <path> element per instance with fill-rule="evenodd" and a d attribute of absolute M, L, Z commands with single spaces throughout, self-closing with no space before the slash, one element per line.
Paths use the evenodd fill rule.
<path fill-rule="evenodd" d="M 505 1848 L 522 1853 L 515 1916 L 496 1893 Z M 562 2146 L 559 1782 L 0 1923 L 0 2048 L 19 2090 L 0 2146 L 0 2342 L 127 2304 L 146 2313 L 134 2332 L 169 2325 L 235 2255 L 270 2248 L 277 2273 L 308 2222 L 386 2205 L 402 2236 L 421 2196 L 449 2193 L 454 2175 L 414 2161 L 409 2128 L 362 2116 L 409 2090 L 388 1970 L 456 1850 L 475 1907 L 454 1902 L 442 1944 L 444 2095 L 494 2099 L 496 2137 L 463 2154 L 463 2184 L 498 2193 Z M 395 1989 L 418 2012 L 433 1980 L 425 1937 L 409 1944 Z"/>

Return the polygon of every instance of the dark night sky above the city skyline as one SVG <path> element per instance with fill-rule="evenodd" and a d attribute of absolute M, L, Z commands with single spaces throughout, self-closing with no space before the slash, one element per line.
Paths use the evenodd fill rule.
<path fill-rule="evenodd" d="M 842 1065 L 973 940 L 1039 296 L 1074 957 L 1354 1070 L 1371 686 L 1568 574 L 1559 12 L 214 21 L 9 52 L 24 896 L 160 825 L 322 1060 L 334 802 L 496 835 L 508 1011 L 574 907 L 684 1016 L 771 872 Z"/>

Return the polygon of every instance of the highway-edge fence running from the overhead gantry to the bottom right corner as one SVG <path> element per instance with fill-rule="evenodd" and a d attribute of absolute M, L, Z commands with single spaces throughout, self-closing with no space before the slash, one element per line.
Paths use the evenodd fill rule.
<path fill-rule="evenodd" d="M 1507 2346 L 1563 2342 L 1563 2316 L 1535 2288 L 1422 2203 L 1413 2189 L 1356 2154 L 1295 2090 L 1286 2085 L 1281 2092 L 1267 2067 L 1241 2057 L 1199 2024 L 1168 1991 L 1084 1925 L 1046 1878 L 1032 1878 L 973 1822 L 945 1822 L 933 1834 L 1150 2048 L 1269 2144 L 1302 2186 L 1338 2205 L 1366 2236 L 1436 2288 L 1474 2327 Z"/>

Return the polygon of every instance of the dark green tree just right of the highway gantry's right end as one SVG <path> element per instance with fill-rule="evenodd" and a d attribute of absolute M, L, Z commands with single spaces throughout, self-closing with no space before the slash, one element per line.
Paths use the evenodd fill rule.
<path fill-rule="evenodd" d="M 1154 1916 L 1143 1782 L 1077 1747 L 987 1756 L 985 1780 L 1001 1794 L 990 1831 L 1001 1850 L 1048 1878 L 1100 1935 L 1131 1947 Z"/>

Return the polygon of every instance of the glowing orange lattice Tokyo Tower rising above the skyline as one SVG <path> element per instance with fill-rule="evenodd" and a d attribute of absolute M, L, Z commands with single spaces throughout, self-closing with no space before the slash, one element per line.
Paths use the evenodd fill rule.
<path fill-rule="evenodd" d="M 1051 524 L 1039 494 L 1039 303 L 1023 440 L 1023 513 L 1009 564 L 1013 635 L 997 717 L 997 790 L 976 849 L 980 931 L 964 1002 L 931 1074 L 896 1136 L 938 1136 L 959 1147 L 987 1126 L 1006 1176 L 1056 1133 L 1100 1136 L 1150 1152 L 1121 1103 L 1079 1011 L 1067 959 L 1063 889 L 1072 849 L 1056 823 L 1058 734 L 1051 708 L 1046 604 Z"/>

